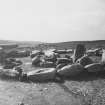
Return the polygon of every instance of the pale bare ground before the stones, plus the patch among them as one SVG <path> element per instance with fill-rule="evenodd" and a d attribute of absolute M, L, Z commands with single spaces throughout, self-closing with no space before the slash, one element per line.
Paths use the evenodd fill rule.
<path fill-rule="evenodd" d="M 29 58 L 22 58 L 27 72 Z M 62 82 L 0 79 L 0 105 L 105 105 L 105 73 L 80 74 Z M 22 104 L 23 103 L 23 104 Z"/>

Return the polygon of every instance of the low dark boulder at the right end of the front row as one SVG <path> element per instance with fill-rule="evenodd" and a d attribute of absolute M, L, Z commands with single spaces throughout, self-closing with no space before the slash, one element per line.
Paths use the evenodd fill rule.
<path fill-rule="evenodd" d="M 103 71 L 103 65 L 101 63 L 93 63 L 84 67 L 88 72 L 101 72 Z"/>

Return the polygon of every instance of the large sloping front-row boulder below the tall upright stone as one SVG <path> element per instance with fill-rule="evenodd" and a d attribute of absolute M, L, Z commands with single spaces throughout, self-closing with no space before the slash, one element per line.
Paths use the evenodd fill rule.
<path fill-rule="evenodd" d="M 59 69 L 57 72 L 61 76 L 75 76 L 81 73 L 84 70 L 84 67 L 81 64 L 72 64 L 64 66 L 63 68 Z"/>

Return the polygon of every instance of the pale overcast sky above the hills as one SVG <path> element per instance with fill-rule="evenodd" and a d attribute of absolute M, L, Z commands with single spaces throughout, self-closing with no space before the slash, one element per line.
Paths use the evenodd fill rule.
<path fill-rule="evenodd" d="M 105 40 L 105 0 L 0 0 L 0 39 Z"/>

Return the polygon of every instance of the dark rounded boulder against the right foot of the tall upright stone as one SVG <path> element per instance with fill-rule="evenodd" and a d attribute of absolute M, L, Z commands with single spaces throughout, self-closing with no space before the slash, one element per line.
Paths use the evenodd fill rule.
<path fill-rule="evenodd" d="M 76 61 L 76 63 L 80 63 L 81 65 L 86 66 L 86 65 L 88 65 L 88 64 L 92 64 L 93 61 L 92 61 L 92 59 L 89 58 L 88 56 L 83 56 L 83 57 L 79 58 L 79 59 Z"/>

